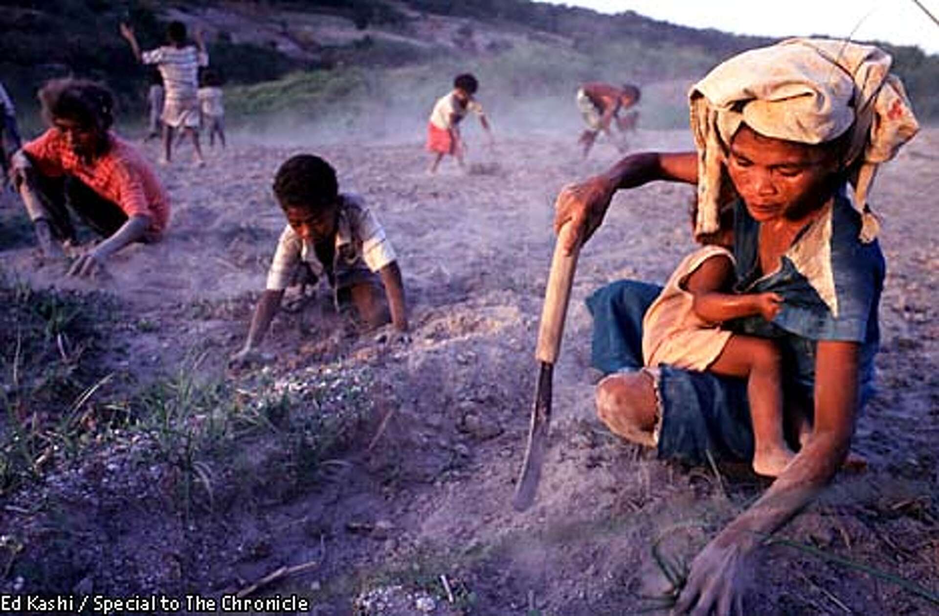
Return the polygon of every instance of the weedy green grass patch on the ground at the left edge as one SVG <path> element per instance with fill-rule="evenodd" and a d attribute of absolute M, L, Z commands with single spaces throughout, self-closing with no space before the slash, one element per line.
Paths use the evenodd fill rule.
<path fill-rule="evenodd" d="M 0 302 L 0 494 L 113 448 L 168 469 L 164 486 L 186 516 L 252 482 L 289 498 L 322 478 L 374 412 L 367 371 L 342 364 L 232 380 L 192 352 L 169 377 L 128 385 L 103 364 L 118 320 L 107 296 L 0 278 Z M 253 479 L 233 482 L 245 450 Z"/>

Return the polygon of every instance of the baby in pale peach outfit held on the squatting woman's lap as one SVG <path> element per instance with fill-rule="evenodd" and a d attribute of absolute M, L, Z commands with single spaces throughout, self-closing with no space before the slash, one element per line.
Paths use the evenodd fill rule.
<path fill-rule="evenodd" d="M 693 212 L 692 220 L 697 212 Z M 743 316 L 772 321 L 781 308 L 776 293 L 733 294 L 733 203 L 721 208 L 720 231 L 700 239 L 671 274 L 642 319 L 642 356 L 650 367 L 668 363 L 686 370 L 747 378 L 755 451 L 753 470 L 776 477 L 793 459 L 783 436 L 782 371 L 777 346 L 768 339 L 720 329 Z"/>

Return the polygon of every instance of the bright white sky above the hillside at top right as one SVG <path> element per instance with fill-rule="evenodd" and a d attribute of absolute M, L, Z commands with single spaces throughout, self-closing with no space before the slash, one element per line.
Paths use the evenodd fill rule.
<path fill-rule="evenodd" d="M 939 25 L 913 0 L 539 0 L 640 15 L 693 28 L 735 34 L 789 37 L 827 35 L 918 45 L 939 54 Z M 939 0 L 919 0 L 939 19 Z M 860 25 L 858 25 L 860 23 Z M 854 30 L 856 26 L 856 30 Z M 854 30 L 854 35 L 852 31 Z"/>

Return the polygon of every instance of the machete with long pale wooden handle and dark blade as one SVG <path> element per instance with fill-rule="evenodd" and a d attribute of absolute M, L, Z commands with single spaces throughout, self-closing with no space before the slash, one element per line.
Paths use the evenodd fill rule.
<path fill-rule="evenodd" d="M 561 338 L 564 331 L 564 317 L 567 315 L 567 303 L 571 297 L 571 285 L 574 283 L 574 269 L 577 268 L 579 242 L 571 254 L 564 254 L 564 243 L 574 228 L 568 223 L 562 226 L 561 233 L 554 245 L 551 258 L 551 271 L 547 276 L 545 306 L 541 312 L 541 325 L 538 329 L 538 344 L 534 357 L 539 363 L 538 385 L 534 393 L 534 406 L 531 408 L 531 427 L 529 429 L 528 448 L 525 461 L 516 484 L 516 495 L 512 506 L 516 511 L 525 511 L 534 502 L 541 480 L 541 466 L 545 459 L 547 429 L 551 423 L 551 384 L 554 363 L 561 350 Z"/>

